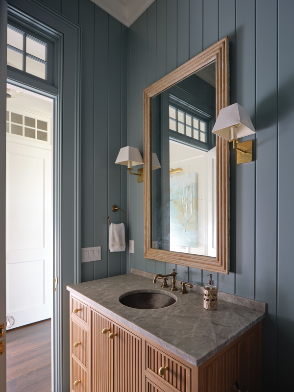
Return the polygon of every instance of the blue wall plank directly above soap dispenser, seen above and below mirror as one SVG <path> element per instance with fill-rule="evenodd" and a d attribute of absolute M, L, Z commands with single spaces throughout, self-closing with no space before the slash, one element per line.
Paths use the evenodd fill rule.
<path fill-rule="evenodd" d="M 219 40 L 219 1 L 211 0 L 203 2 L 203 49 L 209 48 Z M 211 271 L 202 271 L 202 285 L 207 283 L 207 275 Z M 219 274 L 213 272 L 215 283 L 218 282 Z M 190 280 L 190 279 L 189 279 Z"/>

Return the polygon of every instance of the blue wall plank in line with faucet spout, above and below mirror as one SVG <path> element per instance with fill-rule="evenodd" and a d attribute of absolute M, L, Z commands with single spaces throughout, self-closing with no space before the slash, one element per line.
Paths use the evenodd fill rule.
<path fill-rule="evenodd" d="M 166 75 L 166 30 L 167 30 L 167 1 L 156 2 L 156 79 Z M 155 260 L 155 273 L 165 274 L 163 261 Z"/>

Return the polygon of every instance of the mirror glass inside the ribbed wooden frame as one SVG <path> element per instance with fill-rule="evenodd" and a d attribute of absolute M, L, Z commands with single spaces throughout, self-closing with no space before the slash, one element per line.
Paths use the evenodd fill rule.
<path fill-rule="evenodd" d="M 215 62 L 152 98 L 152 248 L 217 256 L 215 119 Z"/>

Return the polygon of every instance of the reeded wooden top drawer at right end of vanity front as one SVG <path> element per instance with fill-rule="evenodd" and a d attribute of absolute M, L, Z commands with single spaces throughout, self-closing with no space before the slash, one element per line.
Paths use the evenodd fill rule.
<path fill-rule="evenodd" d="M 164 376 L 159 368 L 168 367 Z M 180 392 L 191 391 L 191 368 L 146 342 L 146 370 Z"/>

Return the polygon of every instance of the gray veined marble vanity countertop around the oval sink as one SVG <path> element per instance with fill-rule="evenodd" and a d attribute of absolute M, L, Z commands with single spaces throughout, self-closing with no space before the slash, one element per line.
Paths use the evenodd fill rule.
<path fill-rule="evenodd" d="M 70 285 L 67 289 L 197 367 L 265 317 L 264 312 L 220 299 L 216 311 L 205 310 L 203 295 L 189 288 L 188 294 L 171 292 L 171 286 L 162 289 L 161 285 L 162 280 L 153 284 L 151 279 L 126 274 Z M 161 309 L 133 309 L 120 303 L 123 294 L 143 289 L 174 295 L 176 302 Z"/>

